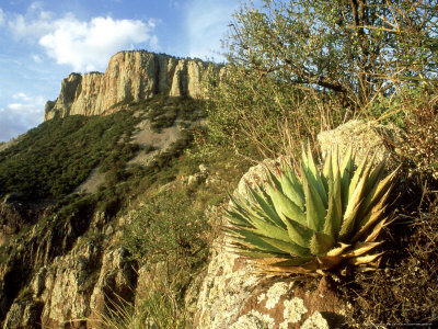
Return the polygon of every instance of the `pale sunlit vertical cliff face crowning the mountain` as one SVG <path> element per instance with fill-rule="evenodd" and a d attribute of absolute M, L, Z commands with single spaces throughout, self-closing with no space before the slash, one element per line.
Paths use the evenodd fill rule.
<path fill-rule="evenodd" d="M 199 59 L 177 59 L 147 52 L 114 55 L 105 73 L 71 73 L 64 79 L 58 99 L 48 101 L 45 120 L 55 115 L 101 115 L 122 102 L 141 101 L 154 94 L 203 98 L 201 81 L 219 66 Z"/>

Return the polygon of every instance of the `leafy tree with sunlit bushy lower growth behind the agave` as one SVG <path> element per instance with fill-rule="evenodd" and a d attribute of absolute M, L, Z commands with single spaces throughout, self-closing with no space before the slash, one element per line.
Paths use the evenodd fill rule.
<path fill-rule="evenodd" d="M 287 151 L 437 78 L 438 0 L 261 2 L 233 15 L 227 73 L 211 97 L 212 135 L 238 150 Z"/>

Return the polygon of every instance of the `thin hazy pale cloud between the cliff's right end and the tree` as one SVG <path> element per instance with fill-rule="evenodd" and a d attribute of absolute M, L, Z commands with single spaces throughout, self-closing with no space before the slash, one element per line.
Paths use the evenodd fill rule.
<path fill-rule="evenodd" d="M 228 31 L 238 1 L 193 0 L 187 10 L 186 26 L 189 56 L 210 59 L 222 52 L 220 39 Z"/>

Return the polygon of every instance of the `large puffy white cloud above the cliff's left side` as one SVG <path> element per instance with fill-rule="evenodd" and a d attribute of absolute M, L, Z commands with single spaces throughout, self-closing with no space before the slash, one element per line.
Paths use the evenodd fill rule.
<path fill-rule="evenodd" d="M 74 71 L 90 71 L 105 69 L 112 55 L 135 45 L 147 43 L 157 50 L 155 23 L 155 20 L 142 22 L 111 16 L 87 22 L 71 13 L 56 19 L 36 2 L 26 15 L 16 15 L 9 21 L 9 27 L 18 39 L 37 41 L 57 64 L 70 65 Z"/>

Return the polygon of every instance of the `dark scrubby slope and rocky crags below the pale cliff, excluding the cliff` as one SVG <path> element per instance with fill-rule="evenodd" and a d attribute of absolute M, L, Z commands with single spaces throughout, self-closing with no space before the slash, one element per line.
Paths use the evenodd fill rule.
<path fill-rule="evenodd" d="M 138 262 L 120 245 L 127 208 L 175 180 L 172 163 L 201 106 L 157 98 L 107 116 L 58 117 L 0 152 L 3 328 L 93 327 L 116 296 L 132 300 Z M 153 129 L 152 151 L 136 143 L 146 128 Z M 130 163 L 146 154 L 143 166 Z M 93 170 L 103 177 L 99 189 L 71 193 Z"/>

